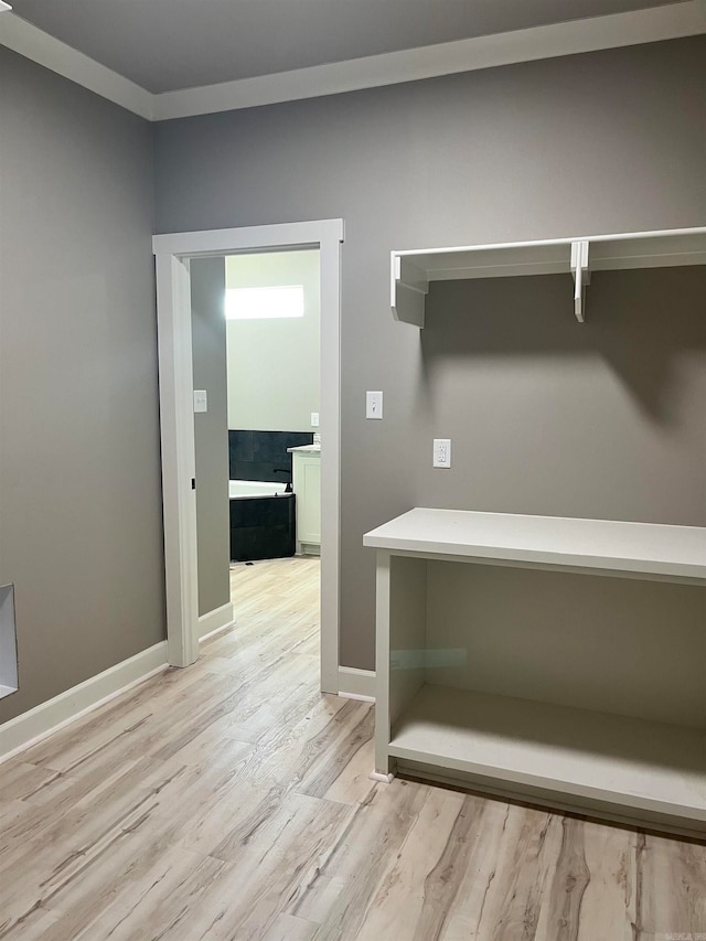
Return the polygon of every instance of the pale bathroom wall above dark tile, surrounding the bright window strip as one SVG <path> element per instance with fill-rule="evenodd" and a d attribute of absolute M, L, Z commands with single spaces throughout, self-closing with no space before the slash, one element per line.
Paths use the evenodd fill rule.
<path fill-rule="evenodd" d="M 302 285 L 304 295 L 303 317 L 227 321 L 228 427 L 310 431 L 320 410 L 319 252 L 233 255 L 225 265 L 228 288 Z"/>

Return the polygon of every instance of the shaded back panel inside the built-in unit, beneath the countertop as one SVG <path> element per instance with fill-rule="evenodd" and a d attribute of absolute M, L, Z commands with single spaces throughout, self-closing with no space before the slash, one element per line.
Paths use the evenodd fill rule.
<path fill-rule="evenodd" d="M 706 741 L 700 586 L 429 559 L 425 622 L 427 684 L 685 726 Z"/>

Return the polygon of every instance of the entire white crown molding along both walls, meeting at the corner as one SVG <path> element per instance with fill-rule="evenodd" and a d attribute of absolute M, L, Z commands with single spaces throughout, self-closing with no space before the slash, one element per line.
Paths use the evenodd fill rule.
<path fill-rule="evenodd" d="M 17 14 L 0 18 L 0 44 L 154 121 L 319 98 L 705 32 L 705 0 L 683 0 L 649 10 L 534 26 L 153 95 Z"/>

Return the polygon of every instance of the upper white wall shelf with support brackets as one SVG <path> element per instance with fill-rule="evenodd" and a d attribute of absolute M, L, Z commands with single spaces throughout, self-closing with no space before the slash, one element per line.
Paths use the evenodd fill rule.
<path fill-rule="evenodd" d="M 421 328 L 432 281 L 570 274 L 582 322 L 591 271 L 705 264 L 706 227 L 393 252 L 391 303 L 397 320 Z"/>

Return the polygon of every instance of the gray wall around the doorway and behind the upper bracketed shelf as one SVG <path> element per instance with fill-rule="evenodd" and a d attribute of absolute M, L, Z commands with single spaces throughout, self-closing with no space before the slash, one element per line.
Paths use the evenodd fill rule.
<path fill-rule="evenodd" d="M 706 522 L 703 304 L 673 308 L 671 272 L 659 308 L 645 275 L 624 311 L 639 276 L 596 277 L 582 328 L 569 288 L 559 314 L 524 281 L 443 286 L 453 309 L 421 336 L 388 307 L 392 248 L 703 225 L 705 92 L 699 36 L 157 127 L 159 232 L 345 218 L 343 664 L 374 662 L 362 534 L 414 504 Z M 496 292 L 482 328 L 474 291 Z M 450 471 L 429 467 L 432 432 Z"/>

